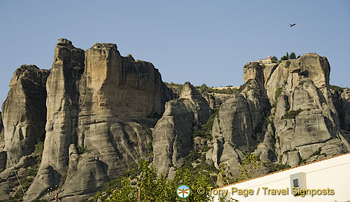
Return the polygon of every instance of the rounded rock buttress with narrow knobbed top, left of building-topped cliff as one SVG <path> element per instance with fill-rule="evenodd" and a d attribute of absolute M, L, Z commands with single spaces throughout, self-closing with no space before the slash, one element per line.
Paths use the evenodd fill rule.
<path fill-rule="evenodd" d="M 239 93 L 221 105 L 212 129 L 214 165 L 219 168 L 225 163 L 235 175 L 239 174 L 239 161 L 244 154 L 263 141 L 265 145 L 258 147 L 260 153 L 265 154 L 264 159 L 273 159 L 273 142 L 269 140 L 271 138 L 264 140 L 269 103 L 262 85 L 262 66 L 248 63 L 244 72 L 248 74 L 244 77 L 246 83 L 240 87 Z"/>

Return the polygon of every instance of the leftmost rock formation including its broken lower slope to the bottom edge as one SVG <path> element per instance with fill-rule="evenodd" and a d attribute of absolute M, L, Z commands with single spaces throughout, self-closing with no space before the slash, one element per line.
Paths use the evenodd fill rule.
<path fill-rule="evenodd" d="M 36 164 L 31 153 L 45 138 L 45 83 L 49 74 L 35 65 L 22 65 L 10 81 L 0 123 L 0 176 L 6 179 L 0 180 L 0 200 L 14 194 L 11 189 L 18 180 L 13 168 L 20 168 L 19 178 L 25 178 L 26 168 Z"/>

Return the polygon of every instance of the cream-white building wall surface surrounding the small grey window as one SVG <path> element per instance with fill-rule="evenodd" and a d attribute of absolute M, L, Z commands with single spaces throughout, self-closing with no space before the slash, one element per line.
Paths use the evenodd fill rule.
<path fill-rule="evenodd" d="M 333 189 L 333 195 L 321 195 L 314 196 L 305 195 L 294 196 L 291 194 L 290 187 L 290 175 L 295 173 L 305 173 L 306 188 L 307 189 Z M 237 189 L 252 189 L 253 195 L 242 196 L 237 195 L 237 192 L 232 196 L 232 187 Z M 272 192 L 264 194 L 262 187 L 268 189 L 287 189 L 288 195 L 272 195 Z M 350 153 L 342 154 L 338 157 L 332 157 L 315 163 L 299 166 L 296 168 L 290 168 L 286 171 L 278 173 L 272 173 L 261 178 L 255 178 L 253 180 L 247 180 L 235 185 L 229 185 L 228 187 L 222 187 L 218 189 L 228 190 L 226 200 L 232 197 L 233 199 L 244 201 L 350 201 Z M 217 189 L 217 190 L 218 190 Z M 259 192 L 257 194 L 257 191 Z M 213 190 L 214 191 L 214 190 Z M 211 196 L 214 196 L 214 201 L 218 200 L 218 195 L 214 195 L 215 192 L 211 192 Z M 222 194 L 223 192 L 221 192 Z M 330 193 L 330 192 L 329 192 Z M 330 193 L 332 194 L 332 193 Z"/>

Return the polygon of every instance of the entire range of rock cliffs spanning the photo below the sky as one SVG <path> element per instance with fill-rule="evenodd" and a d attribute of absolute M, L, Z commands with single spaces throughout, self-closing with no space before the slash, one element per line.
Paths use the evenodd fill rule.
<path fill-rule="evenodd" d="M 217 186 L 248 154 L 262 175 L 350 151 L 350 89 L 330 85 L 327 58 L 248 62 L 243 76 L 239 89 L 169 84 L 116 44 L 84 51 L 61 38 L 50 71 L 23 65 L 10 81 L 0 200 L 22 199 L 14 169 L 28 201 L 55 185 L 62 201 L 87 201 L 141 161 L 169 179 L 206 171 Z"/>

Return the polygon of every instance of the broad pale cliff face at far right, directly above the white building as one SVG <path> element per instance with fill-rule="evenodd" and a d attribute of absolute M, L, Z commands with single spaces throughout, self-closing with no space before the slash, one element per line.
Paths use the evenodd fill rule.
<path fill-rule="evenodd" d="M 327 59 L 307 54 L 292 61 L 289 68 L 279 65 L 275 71 L 281 75 L 279 68 L 288 70 L 287 77 L 279 79 L 285 82 L 281 85 L 281 95 L 276 95 L 274 113 L 276 153 L 282 163 L 295 166 L 301 161 L 347 152 L 349 140 L 339 127 L 329 88 Z"/>

